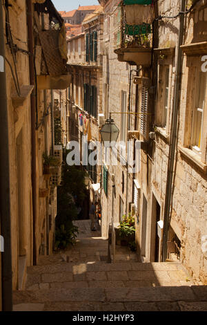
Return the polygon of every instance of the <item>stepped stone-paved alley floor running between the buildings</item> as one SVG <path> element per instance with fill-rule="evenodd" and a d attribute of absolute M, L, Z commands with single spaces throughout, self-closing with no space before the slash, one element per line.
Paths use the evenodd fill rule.
<path fill-rule="evenodd" d="M 14 310 L 207 310 L 207 288 L 195 285 L 180 263 L 138 263 L 118 247 L 117 261 L 107 263 L 108 241 L 90 232 L 90 221 L 76 224 L 72 250 L 28 268 L 27 289 L 14 292 Z"/>

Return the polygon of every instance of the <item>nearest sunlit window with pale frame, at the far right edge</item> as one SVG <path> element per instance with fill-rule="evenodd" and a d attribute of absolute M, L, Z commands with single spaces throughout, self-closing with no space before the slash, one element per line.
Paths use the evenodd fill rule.
<path fill-rule="evenodd" d="M 195 104 L 193 107 L 193 128 L 191 134 L 191 147 L 193 151 L 201 154 L 201 140 L 203 136 L 203 118 L 206 97 L 207 73 L 197 71 L 197 87 L 195 89 Z"/>

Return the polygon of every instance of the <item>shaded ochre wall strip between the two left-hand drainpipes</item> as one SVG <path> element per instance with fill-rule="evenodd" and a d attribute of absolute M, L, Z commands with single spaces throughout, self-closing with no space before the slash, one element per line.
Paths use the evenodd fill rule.
<path fill-rule="evenodd" d="M 19 48 L 28 50 L 26 3 L 15 1 L 9 7 L 10 28 L 14 44 Z M 5 23 L 5 11 L 3 21 Z M 6 24 L 4 24 L 6 27 Z M 6 35 L 6 29 L 4 30 Z M 8 41 L 5 37 L 5 44 Z M 12 65 L 14 62 L 10 46 L 6 45 L 6 58 Z M 17 52 L 16 54 L 17 75 L 20 86 L 29 85 L 28 55 Z M 31 188 L 31 130 L 30 130 L 30 96 L 23 106 L 16 108 L 12 103 L 12 95 L 17 94 L 10 67 L 6 63 L 7 97 L 8 97 L 8 124 L 10 144 L 10 199 L 11 199 L 11 230 L 12 230 L 12 272 L 13 288 L 17 289 L 19 273 L 19 249 L 21 254 L 26 255 L 26 266 L 32 265 L 32 188 Z M 21 139 L 21 140 L 20 140 Z M 19 167 L 17 168 L 17 159 Z M 17 179 L 19 173 L 19 180 Z M 21 179 L 20 179 L 21 178 Z M 21 187 L 21 192 L 19 191 Z M 19 195 L 19 198 L 18 198 Z M 21 201 L 21 214 L 18 211 L 18 200 Z M 24 270 L 26 272 L 26 270 Z"/>

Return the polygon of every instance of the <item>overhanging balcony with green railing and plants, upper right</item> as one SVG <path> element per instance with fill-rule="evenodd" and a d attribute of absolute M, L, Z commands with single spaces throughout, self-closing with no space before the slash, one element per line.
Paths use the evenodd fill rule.
<path fill-rule="evenodd" d="M 120 1 L 114 23 L 114 50 L 120 62 L 150 66 L 153 14 L 150 0 Z"/>

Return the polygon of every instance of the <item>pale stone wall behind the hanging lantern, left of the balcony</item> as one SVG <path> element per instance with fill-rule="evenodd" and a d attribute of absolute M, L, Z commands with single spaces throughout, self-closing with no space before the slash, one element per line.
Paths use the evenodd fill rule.
<path fill-rule="evenodd" d="M 136 69 L 136 66 L 130 66 L 128 63 L 119 62 L 117 55 L 114 53 L 114 33 L 115 33 L 115 22 L 114 15 L 111 12 L 116 8 L 117 1 L 108 1 L 108 5 L 104 8 L 104 23 L 103 23 L 103 113 L 105 118 L 108 118 L 108 113 L 112 113 L 111 117 L 115 120 L 115 124 L 121 130 L 121 91 L 126 93 L 126 112 L 128 111 L 128 95 L 129 95 L 129 82 L 130 82 L 130 68 Z M 135 73 L 134 73 L 135 75 Z M 105 86 L 106 85 L 106 86 Z M 108 95 L 106 94 L 108 89 Z M 108 98 L 106 98 L 108 97 Z M 106 102 L 108 107 L 106 107 Z M 135 85 L 132 84 L 132 101 L 131 111 L 135 111 Z M 114 114 L 113 114 L 114 113 Z M 116 114 L 118 113 L 118 114 Z M 126 115 L 126 120 L 128 115 Z M 130 118 L 130 129 L 135 129 L 135 119 Z M 127 128 L 127 127 L 126 127 Z M 120 136 L 118 142 L 120 141 Z M 126 131 L 127 140 L 127 131 Z M 118 149 L 118 162 L 117 166 L 108 167 L 108 196 L 104 194 L 102 190 L 102 234 L 108 236 L 108 225 L 111 222 L 112 214 L 115 223 L 120 221 L 120 201 L 124 202 L 124 214 L 126 210 L 129 212 L 129 203 L 132 202 L 132 175 L 127 174 L 127 167 L 120 163 L 120 159 L 123 160 L 122 156 L 126 159 L 126 150 Z M 103 161 L 104 162 L 104 161 Z M 114 210 L 112 212 L 112 174 L 115 175 L 115 196 L 114 196 Z M 123 176 L 124 186 L 122 186 Z M 128 189 L 127 189 L 128 183 Z M 124 191 L 122 189 L 124 187 Z M 107 208 L 106 208 L 107 207 Z"/>

